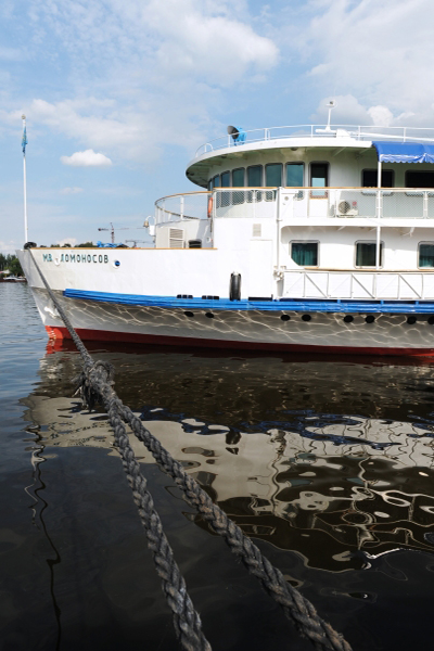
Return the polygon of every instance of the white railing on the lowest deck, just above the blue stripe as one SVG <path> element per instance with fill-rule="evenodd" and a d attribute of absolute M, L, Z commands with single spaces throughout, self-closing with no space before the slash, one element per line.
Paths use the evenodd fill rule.
<path fill-rule="evenodd" d="M 284 298 L 434 299 L 430 271 L 304 271 L 283 275 Z"/>

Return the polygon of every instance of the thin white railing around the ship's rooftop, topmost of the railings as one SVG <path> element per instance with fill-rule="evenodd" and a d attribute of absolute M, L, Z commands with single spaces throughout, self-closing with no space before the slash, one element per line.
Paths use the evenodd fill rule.
<path fill-rule="evenodd" d="M 434 129 L 425 127 L 379 127 L 374 125 L 293 125 L 285 127 L 264 127 L 245 131 L 245 140 L 237 143 L 231 136 L 221 136 L 201 144 L 196 150 L 195 157 L 203 154 L 231 146 L 243 146 L 252 142 L 264 140 L 278 140 L 281 138 L 339 138 L 350 137 L 356 140 L 396 140 L 406 142 L 408 140 L 422 140 L 434 142 Z"/>

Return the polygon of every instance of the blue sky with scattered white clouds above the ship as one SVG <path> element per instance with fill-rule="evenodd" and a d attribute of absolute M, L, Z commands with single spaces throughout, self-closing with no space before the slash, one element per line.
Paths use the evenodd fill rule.
<path fill-rule="evenodd" d="M 0 251 L 149 240 L 197 146 L 333 122 L 434 127 L 433 0 L 2 0 Z"/>

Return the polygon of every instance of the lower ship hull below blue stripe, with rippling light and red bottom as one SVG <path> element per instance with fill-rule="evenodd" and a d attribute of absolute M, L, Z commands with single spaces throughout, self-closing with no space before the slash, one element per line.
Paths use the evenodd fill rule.
<path fill-rule="evenodd" d="M 33 291 L 50 339 L 68 337 L 46 290 Z M 244 304 L 237 309 L 237 302 L 228 306 L 229 302 L 202 304 L 199 299 L 181 301 L 179 307 L 162 307 L 158 301 L 155 305 L 131 305 L 115 298 L 110 302 L 72 298 L 59 291 L 55 294 L 84 341 L 342 355 L 434 356 L 434 324 L 430 312 L 410 315 L 409 318 L 406 312 L 381 312 L 379 306 L 373 305 L 371 311 L 367 306 L 363 311 L 348 315 L 316 310 L 312 303 L 295 306 L 284 302 L 264 304 L 263 309 L 252 309 Z M 176 301 L 171 301 L 174 303 Z M 348 316 L 352 317 L 349 322 L 344 320 Z M 367 318 L 372 317 L 373 321 L 367 322 Z"/>

